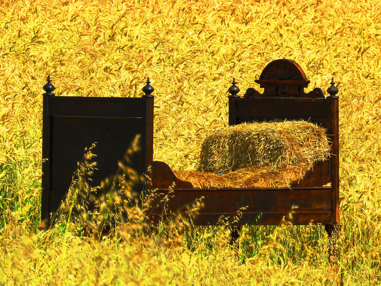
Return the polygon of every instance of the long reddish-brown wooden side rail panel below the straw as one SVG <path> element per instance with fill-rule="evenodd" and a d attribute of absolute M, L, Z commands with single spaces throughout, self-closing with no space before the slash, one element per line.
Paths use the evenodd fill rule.
<path fill-rule="evenodd" d="M 305 190 L 174 190 L 169 201 L 158 203 L 167 193 L 158 191 L 160 197 L 154 201 L 153 213 L 182 212 L 196 199 L 202 198 L 203 208 L 200 213 L 235 214 L 282 212 L 288 213 L 294 206 L 296 212 L 332 212 L 330 187 Z M 245 208 L 245 209 L 242 209 Z M 166 209 L 166 210 L 164 210 Z"/>

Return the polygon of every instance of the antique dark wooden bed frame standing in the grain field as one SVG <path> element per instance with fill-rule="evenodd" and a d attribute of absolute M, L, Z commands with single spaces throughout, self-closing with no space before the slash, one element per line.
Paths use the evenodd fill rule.
<path fill-rule="evenodd" d="M 58 208 L 85 147 L 98 142 L 98 149 L 93 152 L 99 163 L 93 176 L 97 185 L 117 169 L 117 161 L 122 159 L 129 142 L 141 134 L 142 153 L 134 167 L 142 174 L 152 166 L 152 188 L 161 197 L 173 191 L 165 206 L 159 200 L 155 202 L 154 222 L 184 213 L 187 206 L 203 197 L 203 208 L 193 219 L 194 225 L 216 225 L 221 217 L 236 218 L 232 223 L 236 226 L 279 225 L 297 206 L 293 209 L 294 225 L 319 223 L 335 238 L 339 222 L 339 97 L 333 79 L 326 98 L 320 88 L 305 93 L 310 81 L 301 67 L 289 59 L 267 64 L 259 80 L 255 80 L 264 88 L 262 94 L 248 88 L 241 98 L 233 79 L 229 88 L 229 125 L 271 119 L 303 119 L 320 124 L 327 129 L 331 156 L 316 162 L 303 180 L 292 182 L 289 188 L 215 189 L 193 188 L 191 183 L 178 180 L 164 162 L 152 161 L 154 88 L 149 79 L 142 98 L 54 96 L 49 77 L 47 81 L 43 87 L 42 156 L 47 160 L 42 166 L 42 219 L 49 219 Z M 173 183 L 174 188 L 170 188 Z M 333 244 L 335 248 L 335 241 Z"/>

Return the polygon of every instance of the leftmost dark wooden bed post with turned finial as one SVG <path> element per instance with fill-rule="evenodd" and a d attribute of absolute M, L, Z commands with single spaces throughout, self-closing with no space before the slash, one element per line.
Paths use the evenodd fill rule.
<path fill-rule="evenodd" d="M 49 225 L 49 190 L 50 190 L 50 162 L 47 160 L 50 154 L 50 98 L 54 96 L 54 85 L 51 84 L 50 76 L 46 79 L 46 84 L 42 87 L 45 93 L 42 94 L 42 182 L 41 182 L 41 223 Z M 45 227 L 44 227 L 45 228 Z"/>

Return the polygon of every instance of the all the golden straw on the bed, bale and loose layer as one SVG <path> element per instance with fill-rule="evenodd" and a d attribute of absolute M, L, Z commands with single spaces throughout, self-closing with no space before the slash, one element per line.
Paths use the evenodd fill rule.
<path fill-rule="evenodd" d="M 203 142 L 199 172 L 174 174 L 195 188 L 286 187 L 328 159 L 325 133 L 306 121 L 229 126 Z"/>

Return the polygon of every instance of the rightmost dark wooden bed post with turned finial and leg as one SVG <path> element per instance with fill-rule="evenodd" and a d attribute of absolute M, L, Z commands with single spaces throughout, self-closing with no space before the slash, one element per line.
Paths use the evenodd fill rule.
<path fill-rule="evenodd" d="M 340 229 L 339 223 L 339 96 L 336 94 L 339 92 L 335 87 L 333 78 L 331 80 L 331 86 L 327 89 L 329 96 L 327 99 L 331 101 L 331 140 L 332 140 L 332 221 L 331 224 L 325 225 L 325 231 L 327 231 L 330 238 L 331 247 L 329 254 L 329 261 L 331 264 L 337 263 L 338 245 L 336 239 L 338 239 L 338 231 Z"/>

